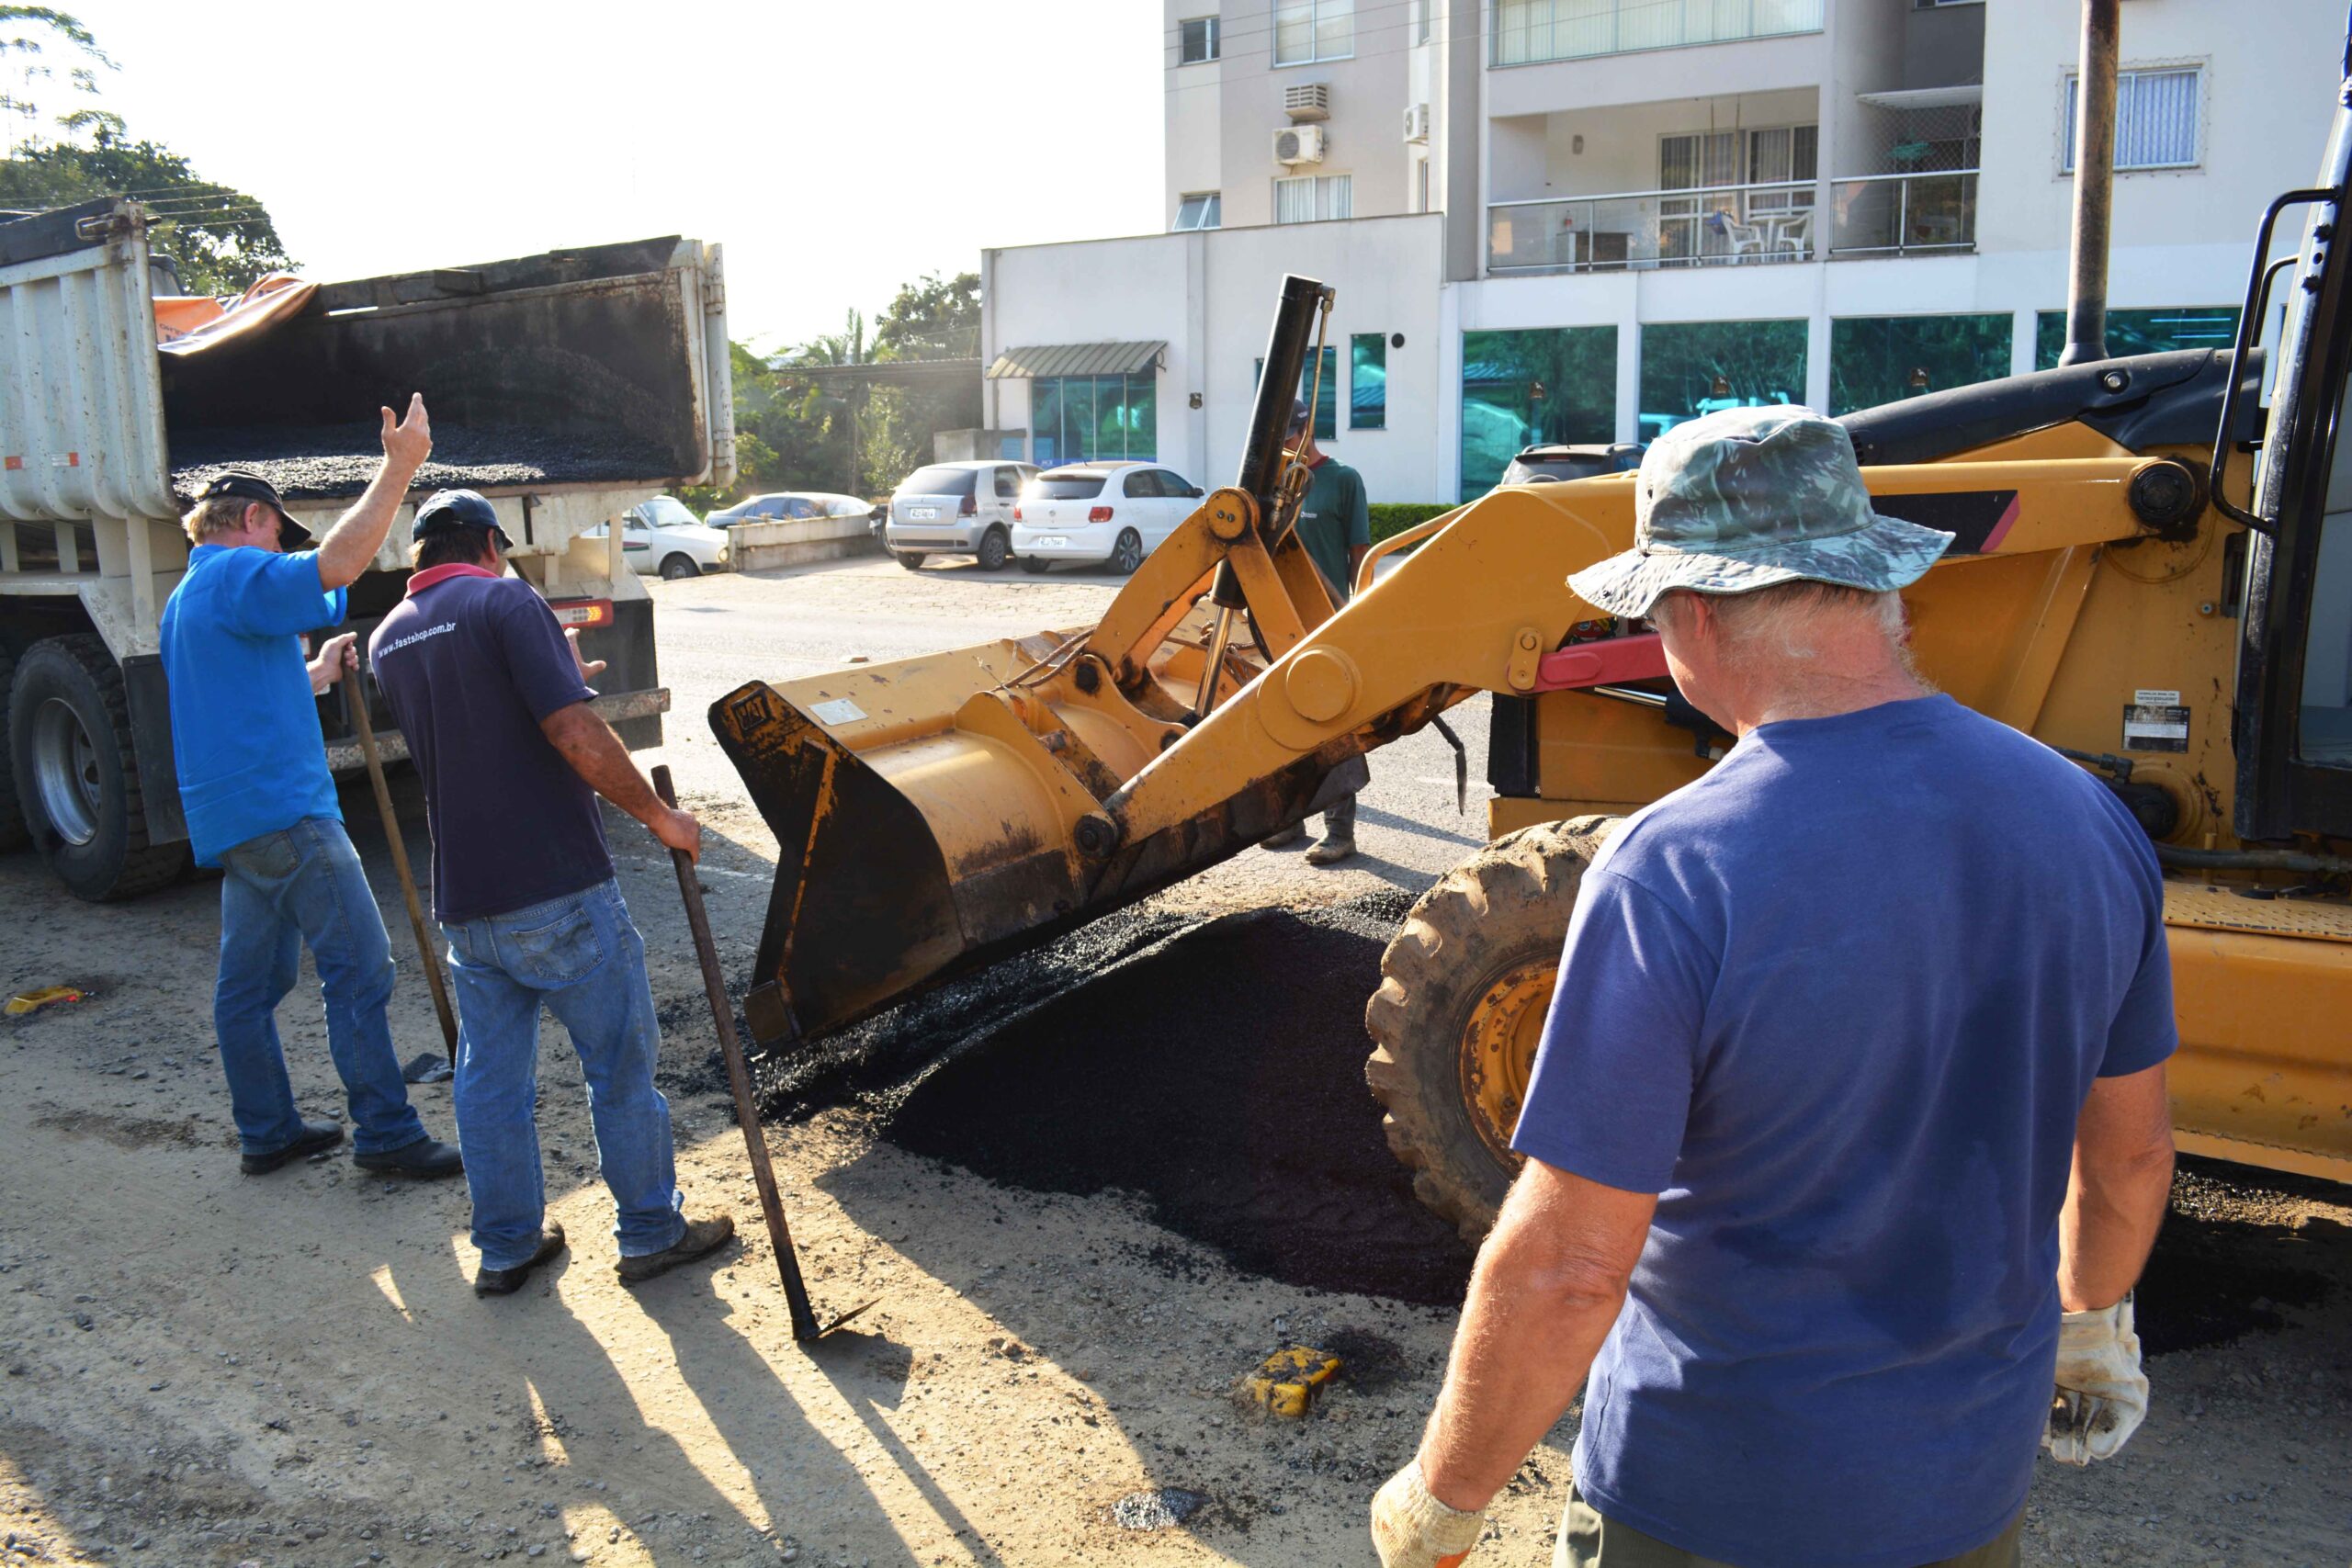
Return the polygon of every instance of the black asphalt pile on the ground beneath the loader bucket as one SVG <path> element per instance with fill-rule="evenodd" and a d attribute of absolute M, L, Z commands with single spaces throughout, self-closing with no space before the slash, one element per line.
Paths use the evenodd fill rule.
<path fill-rule="evenodd" d="M 1364 1086 L 1364 999 L 1411 898 L 1254 910 L 1143 943 L 969 1032 L 898 1147 L 1033 1192 L 1134 1192 L 1251 1274 L 1458 1305 L 1472 1253 L 1414 1199 Z"/>

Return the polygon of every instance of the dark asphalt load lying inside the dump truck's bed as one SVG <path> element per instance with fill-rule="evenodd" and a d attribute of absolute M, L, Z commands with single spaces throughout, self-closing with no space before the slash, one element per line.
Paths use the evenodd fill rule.
<path fill-rule="evenodd" d="M 383 461 L 376 421 L 346 425 L 235 425 L 172 433 L 172 489 L 181 503 L 219 473 L 240 468 L 278 487 L 287 501 L 358 496 Z M 534 425 L 433 423 L 433 458 L 416 489 L 496 489 L 520 484 L 630 484 L 673 470 L 659 442 L 626 430 L 555 433 Z"/>

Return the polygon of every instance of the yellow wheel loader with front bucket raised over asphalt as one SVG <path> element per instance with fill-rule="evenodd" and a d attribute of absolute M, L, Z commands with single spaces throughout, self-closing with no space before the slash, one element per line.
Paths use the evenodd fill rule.
<path fill-rule="evenodd" d="M 2157 844 L 2180 1145 L 2338 1180 L 2345 125 L 2326 188 L 2263 221 L 2232 353 L 2070 364 L 1844 421 L 1877 510 L 1957 536 L 1903 595 L 1922 670 L 2091 769 Z M 2303 244 L 2267 268 L 2286 212 Z M 2253 336 L 2272 294 L 2286 322 L 2265 402 Z M 783 1046 L 1105 914 L 1317 811 L 1362 780 L 1364 752 L 1491 693 L 1494 844 L 1421 898 L 1367 1013 L 1390 1145 L 1475 1234 L 1510 1180 L 1583 867 L 1616 818 L 1698 778 L 1729 738 L 1675 693 L 1646 625 L 1566 588 L 1632 543 L 1635 475 L 1498 489 L 1378 545 L 1334 611 L 1291 527 L 1303 470 L 1282 454 L 1319 310 L 1322 284 L 1284 280 L 1240 477 L 1098 625 L 750 682 L 713 705 L 781 846 L 746 1016 Z"/>

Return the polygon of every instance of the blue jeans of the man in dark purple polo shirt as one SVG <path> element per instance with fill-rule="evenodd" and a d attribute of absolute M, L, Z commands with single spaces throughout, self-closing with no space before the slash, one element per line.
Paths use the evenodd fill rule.
<path fill-rule="evenodd" d="M 673 1246 L 680 1218 L 670 1103 L 654 1088 L 661 1025 L 644 976 L 644 940 L 621 884 L 604 879 L 527 910 L 445 924 L 456 978 L 456 1143 L 473 1192 L 473 1244 L 485 1269 L 510 1269 L 539 1248 L 546 1173 L 539 1166 L 539 1009 L 572 1034 L 588 1077 L 597 1168 L 621 1211 L 623 1258 Z"/>

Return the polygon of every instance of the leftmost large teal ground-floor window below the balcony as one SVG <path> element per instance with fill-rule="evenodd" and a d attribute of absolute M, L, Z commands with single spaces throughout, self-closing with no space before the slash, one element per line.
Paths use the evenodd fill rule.
<path fill-rule="evenodd" d="M 1463 334 L 1463 501 L 1494 489 L 1519 447 L 1613 435 L 1616 327 Z"/>

